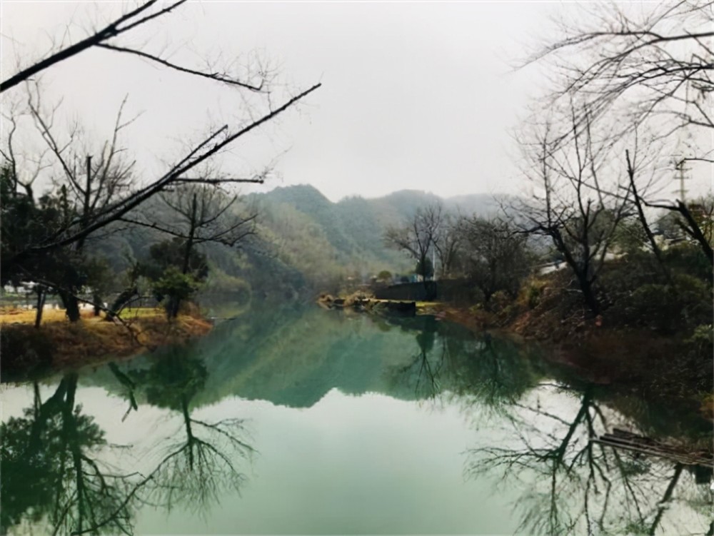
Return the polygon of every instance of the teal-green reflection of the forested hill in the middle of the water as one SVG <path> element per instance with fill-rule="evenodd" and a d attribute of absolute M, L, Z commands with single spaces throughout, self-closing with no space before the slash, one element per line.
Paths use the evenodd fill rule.
<path fill-rule="evenodd" d="M 233 368 L 219 390 L 292 407 L 309 407 L 332 388 L 387 393 L 383 371 L 415 351 L 413 337 L 399 330 L 382 332 L 362 317 L 315 310 L 286 320 L 268 337 L 258 330 L 241 348 L 211 358 Z"/>

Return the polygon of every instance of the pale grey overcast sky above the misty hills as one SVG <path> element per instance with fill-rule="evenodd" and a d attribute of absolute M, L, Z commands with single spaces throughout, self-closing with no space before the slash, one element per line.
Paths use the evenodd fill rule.
<path fill-rule="evenodd" d="M 131 5 L 3 0 L 3 78 L 16 61 L 46 54 L 53 39 L 81 39 Z M 535 69 L 512 67 L 524 46 L 547 37 L 548 16 L 563 9 L 573 8 L 196 1 L 118 42 L 195 65 L 261 51 L 283 84 L 273 105 L 323 83 L 298 109 L 234 146 L 222 161 L 226 171 L 251 173 L 279 156 L 270 187 L 310 183 L 333 200 L 403 188 L 441 196 L 513 193 L 522 183 L 511 129 L 544 82 Z M 79 118 L 94 140 L 109 136 L 128 94 L 127 112 L 142 114 L 123 143 L 147 177 L 209 125 L 248 118 L 233 89 L 111 51 L 86 51 L 48 69 L 41 84 L 45 103 L 64 98 L 58 128 Z"/>

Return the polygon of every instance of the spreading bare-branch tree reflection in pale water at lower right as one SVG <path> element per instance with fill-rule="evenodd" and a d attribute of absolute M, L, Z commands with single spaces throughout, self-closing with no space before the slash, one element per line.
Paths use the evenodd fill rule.
<path fill-rule="evenodd" d="M 473 449 L 466 470 L 472 476 L 501 472 L 506 485 L 516 480 L 529 490 L 518 501 L 521 530 L 533 535 L 670 534 L 683 530 L 675 519 L 665 523 L 670 510 L 676 511 L 674 502 L 690 516 L 711 511 L 708 485 L 685 488 L 685 477 L 693 482 L 681 463 L 589 441 L 608 428 L 593 388 L 585 389 L 569 415 L 540 402 L 520 410 L 511 415 L 513 436 L 498 446 Z"/>

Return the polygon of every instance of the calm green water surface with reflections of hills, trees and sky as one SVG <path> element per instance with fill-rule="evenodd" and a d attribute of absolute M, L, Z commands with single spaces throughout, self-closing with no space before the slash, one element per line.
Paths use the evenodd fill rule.
<path fill-rule="evenodd" d="M 710 433 L 431 317 L 251 310 L 3 385 L 9 534 L 704 534 L 710 475 L 588 443 Z"/>

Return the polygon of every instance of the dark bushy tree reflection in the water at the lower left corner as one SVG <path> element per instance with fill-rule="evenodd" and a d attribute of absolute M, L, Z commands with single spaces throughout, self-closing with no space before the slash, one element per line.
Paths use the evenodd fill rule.
<path fill-rule="evenodd" d="M 131 534 L 135 475 L 99 460 L 104 432 L 76 404 L 77 375 L 62 378 L 44 402 L 34 384 L 34 404 L 24 418 L 1 425 L 1 527 L 23 519 L 49 523 L 56 534 Z"/>

